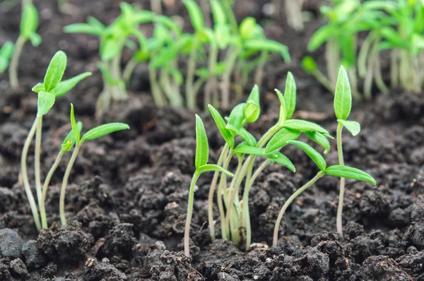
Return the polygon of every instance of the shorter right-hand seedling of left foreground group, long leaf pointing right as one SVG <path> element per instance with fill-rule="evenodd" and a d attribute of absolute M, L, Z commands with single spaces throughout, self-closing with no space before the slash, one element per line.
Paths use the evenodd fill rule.
<path fill-rule="evenodd" d="M 66 186 L 68 185 L 69 175 L 71 174 L 73 163 L 75 162 L 76 157 L 78 156 L 78 152 L 81 148 L 81 145 L 83 145 L 83 143 L 86 142 L 86 140 L 94 140 L 96 138 L 106 136 L 116 131 L 129 129 L 129 126 L 127 124 L 108 123 L 108 124 L 103 124 L 95 128 L 92 128 L 86 133 L 84 133 L 83 136 L 81 136 L 80 131 L 82 126 L 78 127 L 78 124 L 76 123 L 75 116 L 73 114 L 73 104 L 71 104 L 71 126 L 72 126 L 73 138 L 75 138 L 75 148 L 73 148 L 71 159 L 69 160 L 68 166 L 66 167 L 66 170 L 65 170 L 64 179 L 61 184 L 60 198 L 59 198 L 59 216 L 60 216 L 61 225 L 63 226 L 66 226 L 66 216 L 65 216 Z M 73 139 L 71 137 L 71 143 L 72 142 L 73 142 Z M 66 146 L 66 149 L 67 148 L 69 148 L 69 146 Z"/>

